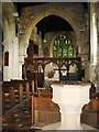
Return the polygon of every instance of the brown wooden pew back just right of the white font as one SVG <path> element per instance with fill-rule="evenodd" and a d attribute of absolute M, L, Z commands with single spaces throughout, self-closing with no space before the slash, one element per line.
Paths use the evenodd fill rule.
<path fill-rule="evenodd" d="M 99 129 L 99 99 L 91 99 L 82 109 L 81 122 Z"/>

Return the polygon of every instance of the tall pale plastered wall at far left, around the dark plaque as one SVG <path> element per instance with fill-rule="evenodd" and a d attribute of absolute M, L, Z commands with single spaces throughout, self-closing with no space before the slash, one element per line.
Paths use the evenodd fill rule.
<path fill-rule="evenodd" d="M 4 52 L 9 52 L 9 66 L 4 66 L 3 53 L 3 80 L 18 79 L 19 42 L 15 37 L 15 20 L 13 3 L 3 3 L 2 30 Z"/>

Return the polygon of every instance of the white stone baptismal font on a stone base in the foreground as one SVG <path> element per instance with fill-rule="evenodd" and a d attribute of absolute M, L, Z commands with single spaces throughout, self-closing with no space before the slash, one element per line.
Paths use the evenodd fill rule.
<path fill-rule="evenodd" d="M 89 102 L 89 84 L 54 84 L 53 101 L 61 108 L 62 119 L 58 123 L 44 127 L 43 130 L 82 130 L 80 124 L 81 108 Z"/>

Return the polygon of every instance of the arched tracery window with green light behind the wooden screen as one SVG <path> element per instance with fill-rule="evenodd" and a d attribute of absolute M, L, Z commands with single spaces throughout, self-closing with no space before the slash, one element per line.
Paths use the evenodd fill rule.
<path fill-rule="evenodd" d="M 59 34 L 54 40 L 53 46 L 53 57 L 73 57 L 74 48 L 72 40 L 69 40 L 65 34 Z"/>

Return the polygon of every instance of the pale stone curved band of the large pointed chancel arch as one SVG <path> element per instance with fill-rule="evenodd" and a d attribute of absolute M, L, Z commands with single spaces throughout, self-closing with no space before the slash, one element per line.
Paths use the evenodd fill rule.
<path fill-rule="evenodd" d="M 48 16 L 48 15 L 52 15 L 52 14 L 64 19 L 65 21 L 67 21 L 70 24 L 70 26 L 73 28 L 73 30 L 76 34 L 75 35 L 76 36 L 76 45 L 78 45 L 79 40 L 80 40 L 80 33 L 79 33 L 79 25 L 77 24 L 77 21 L 74 21 L 74 19 L 68 13 L 64 12 L 62 9 L 57 10 L 57 9 L 53 9 L 53 8 L 52 9 L 46 9 L 38 14 L 36 13 L 36 15 L 32 19 L 32 21 L 30 21 L 30 23 L 29 23 L 29 25 L 25 30 L 25 35 L 23 36 L 21 42 L 25 42 L 28 44 L 30 35 L 32 33 L 32 30 L 34 29 L 36 23 L 38 21 L 41 21 L 42 19 L 44 19 L 45 16 Z"/>

